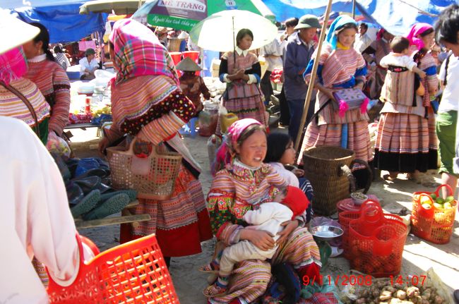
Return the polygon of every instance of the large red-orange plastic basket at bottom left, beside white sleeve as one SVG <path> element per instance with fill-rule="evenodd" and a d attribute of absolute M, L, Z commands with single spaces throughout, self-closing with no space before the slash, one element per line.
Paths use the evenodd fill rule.
<path fill-rule="evenodd" d="M 80 256 L 80 269 L 70 286 L 60 286 L 49 276 L 49 303 L 179 304 L 154 234 L 111 248 L 88 263 Z"/>

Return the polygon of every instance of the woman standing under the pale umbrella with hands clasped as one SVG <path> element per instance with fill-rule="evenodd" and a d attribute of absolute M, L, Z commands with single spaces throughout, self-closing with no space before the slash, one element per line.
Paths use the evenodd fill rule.
<path fill-rule="evenodd" d="M 251 30 L 239 30 L 236 51 L 229 51 L 222 56 L 218 74 L 220 81 L 227 83 L 223 106 L 228 113 L 236 114 L 239 119 L 254 118 L 268 126 L 263 94 L 258 87 L 261 66 L 257 56 L 249 51 L 253 39 Z M 216 133 L 220 134 L 220 117 Z"/>

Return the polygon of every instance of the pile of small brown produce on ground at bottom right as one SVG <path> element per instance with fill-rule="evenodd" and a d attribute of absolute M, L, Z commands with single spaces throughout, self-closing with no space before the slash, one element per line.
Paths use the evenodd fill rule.
<path fill-rule="evenodd" d="M 371 286 L 349 286 L 341 300 L 344 304 L 443 304 L 446 303 L 432 286 L 394 284 L 391 279 L 374 281 Z M 355 299 L 355 300 L 352 300 Z"/>

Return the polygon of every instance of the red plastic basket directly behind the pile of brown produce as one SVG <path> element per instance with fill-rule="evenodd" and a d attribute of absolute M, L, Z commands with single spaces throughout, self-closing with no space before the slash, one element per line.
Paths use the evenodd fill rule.
<path fill-rule="evenodd" d="M 396 275 L 402 267 L 407 226 L 400 217 L 384 214 L 376 204 L 362 206 L 349 224 L 351 266 L 375 277 Z"/>

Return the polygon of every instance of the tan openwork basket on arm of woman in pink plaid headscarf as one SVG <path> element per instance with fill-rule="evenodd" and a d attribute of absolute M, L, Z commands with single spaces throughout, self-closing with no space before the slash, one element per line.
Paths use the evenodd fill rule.
<path fill-rule="evenodd" d="M 159 151 L 155 146 L 148 157 L 139 158 L 133 153 L 134 142 L 128 151 L 122 147 L 107 148 L 113 188 L 137 190 L 140 198 L 167 200 L 179 175 L 181 155 Z"/>

